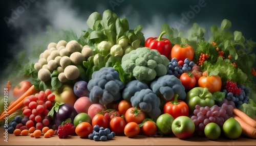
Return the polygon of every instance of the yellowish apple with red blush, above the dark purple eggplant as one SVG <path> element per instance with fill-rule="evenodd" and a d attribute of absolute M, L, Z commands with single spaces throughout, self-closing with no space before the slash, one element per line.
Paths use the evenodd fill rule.
<path fill-rule="evenodd" d="M 52 93 L 55 95 L 55 102 L 66 103 L 74 106 L 77 96 L 74 93 L 73 86 L 62 85 L 60 88 L 53 90 Z"/>

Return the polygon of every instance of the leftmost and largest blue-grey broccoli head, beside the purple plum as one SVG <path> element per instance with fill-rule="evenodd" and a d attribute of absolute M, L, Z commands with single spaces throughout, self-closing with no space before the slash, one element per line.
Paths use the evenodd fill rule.
<path fill-rule="evenodd" d="M 113 67 L 102 67 L 94 71 L 87 85 L 90 101 L 101 105 L 121 99 L 121 90 L 124 87 L 124 83 L 120 81 L 119 72 Z"/>

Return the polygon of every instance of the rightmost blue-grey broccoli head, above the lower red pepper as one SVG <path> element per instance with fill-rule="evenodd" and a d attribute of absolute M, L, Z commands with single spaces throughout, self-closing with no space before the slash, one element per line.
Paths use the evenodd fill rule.
<path fill-rule="evenodd" d="M 185 87 L 174 75 L 159 77 L 150 84 L 150 87 L 154 93 L 162 95 L 165 100 L 171 100 L 175 94 L 179 95 L 179 100 L 184 100 L 186 98 Z"/>

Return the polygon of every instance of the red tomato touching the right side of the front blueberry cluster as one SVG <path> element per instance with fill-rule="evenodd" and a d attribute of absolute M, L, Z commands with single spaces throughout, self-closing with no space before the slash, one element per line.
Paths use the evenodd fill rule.
<path fill-rule="evenodd" d="M 121 134 L 124 131 L 126 123 L 124 119 L 120 116 L 116 116 L 110 121 L 110 130 L 115 132 L 116 134 Z"/>

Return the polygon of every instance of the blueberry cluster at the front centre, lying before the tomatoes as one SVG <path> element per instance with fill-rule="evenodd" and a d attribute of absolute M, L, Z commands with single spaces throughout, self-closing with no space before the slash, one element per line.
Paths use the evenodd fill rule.
<path fill-rule="evenodd" d="M 106 141 L 112 140 L 115 135 L 115 132 L 111 132 L 109 128 L 103 128 L 95 125 L 93 127 L 93 132 L 89 134 L 88 138 L 95 141 Z"/>

